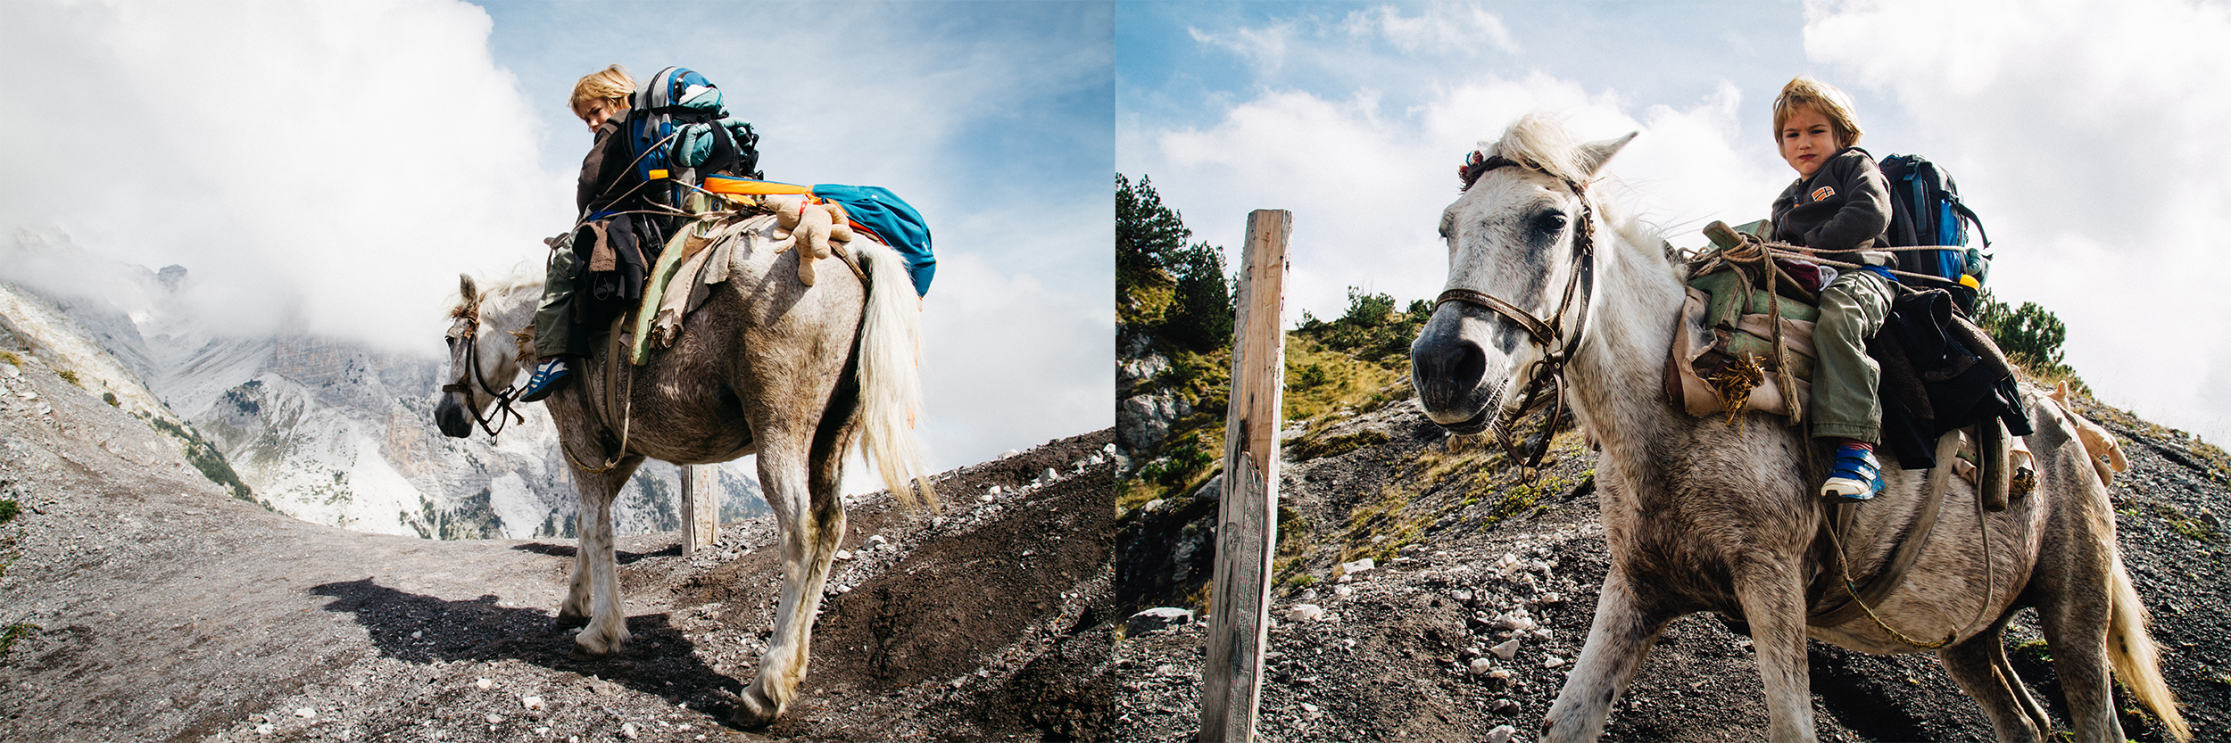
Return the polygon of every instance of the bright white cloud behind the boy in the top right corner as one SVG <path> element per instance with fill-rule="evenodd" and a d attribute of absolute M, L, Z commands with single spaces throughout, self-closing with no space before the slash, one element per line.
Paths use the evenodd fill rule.
<path fill-rule="evenodd" d="M 1961 29 L 1943 45 L 1910 29 Z M 1892 94 L 1983 214 L 1992 283 L 2068 324 L 2106 399 L 2231 437 L 2231 9 L 1807 7 L 1805 49 Z"/>

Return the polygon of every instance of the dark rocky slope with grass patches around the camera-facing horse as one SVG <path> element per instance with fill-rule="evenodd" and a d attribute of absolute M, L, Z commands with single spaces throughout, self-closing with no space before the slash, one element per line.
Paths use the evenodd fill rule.
<path fill-rule="evenodd" d="M 2122 553 L 2153 611 L 2164 676 L 2198 739 L 2231 739 L 2231 571 L 2220 518 L 2231 457 L 2126 413 L 2082 411 L 2124 440 L 2113 498 Z M 1562 437 L 1539 484 L 1499 453 L 1450 442 L 1414 402 L 1290 431 L 1281 477 L 1263 741 L 1533 741 L 1595 609 L 1606 558 L 1593 455 Z M 1214 489 L 1211 489 L 1214 493 Z M 1216 502 L 1176 498 L 1118 520 L 1124 611 L 1198 600 Z M 1370 558 L 1370 569 L 1359 560 Z M 1187 609 L 1200 609 L 1191 605 Z M 1178 611 L 1165 611 L 1178 614 Z M 1116 645 L 1118 734 L 1189 741 L 1200 620 L 1138 618 Z M 2010 627 L 2015 667 L 2061 716 L 2035 611 Z M 1675 620 L 1611 716 L 1611 741 L 1758 741 L 1765 703 L 1749 640 L 1713 616 Z M 1823 741 L 1988 741 L 1990 723 L 1930 654 L 1863 656 L 1814 643 Z M 2131 705 L 2124 705 L 2131 707 Z M 2124 714 L 2137 741 L 2162 732 Z"/>

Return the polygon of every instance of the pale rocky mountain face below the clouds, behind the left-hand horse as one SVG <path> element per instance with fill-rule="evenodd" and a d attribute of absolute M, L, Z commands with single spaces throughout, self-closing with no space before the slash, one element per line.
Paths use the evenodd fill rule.
<path fill-rule="evenodd" d="M 569 538 L 578 498 L 540 406 L 498 440 L 433 426 L 446 359 L 299 332 L 234 335 L 174 301 L 185 268 L 114 266 L 103 297 L 0 288 L 47 364 L 163 431 L 234 498 L 308 522 L 419 538 Z M 433 346 L 433 339 L 428 339 Z M 437 350 L 437 348 L 435 348 Z M 747 462 L 705 469 L 727 518 L 765 513 Z M 647 464 L 618 533 L 678 529 L 678 469 Z"/>

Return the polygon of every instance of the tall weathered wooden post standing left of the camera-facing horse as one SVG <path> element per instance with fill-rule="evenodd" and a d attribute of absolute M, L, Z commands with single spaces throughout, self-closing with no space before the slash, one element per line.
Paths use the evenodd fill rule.
<path fill-rule="evenodd" d="M 1225 411 L 1225 493 L 1216 515 L 1216 594 L 1209 658 L 1200 672 L 1200 741 L 1254 741 L 1263 645 L 1269 643 L 1269 565 L 1278 547 L 1278 424 L 1285 388 L 1287 210 L 1247 212 L 1238 317 L 1232 324 L 1232 402 Z"/>

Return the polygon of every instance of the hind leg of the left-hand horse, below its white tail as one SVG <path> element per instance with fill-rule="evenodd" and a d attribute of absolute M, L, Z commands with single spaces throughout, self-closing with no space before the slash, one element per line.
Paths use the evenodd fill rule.
<path fill-rule="evenodd" d="M 814 442 L 808 462 L 805 442 L 796 444 L 763 444 L 759 451 L 759 482 L 783 540 L 783 600 L 774 611 L 767 652 L 759 656 L 759 678 L 736 705 L 734 723 L 743 727 L 774 723 L 799 696 L 821 587 L 837 542 L 843 540 L 843 448 L 830 453 L 823 442 Z"/>

